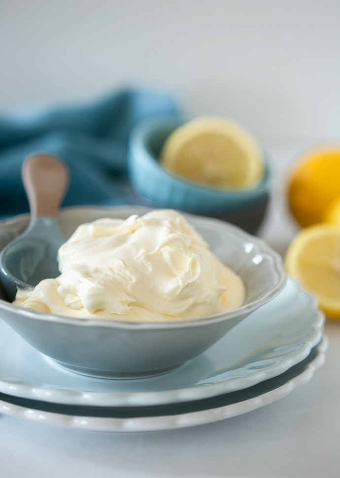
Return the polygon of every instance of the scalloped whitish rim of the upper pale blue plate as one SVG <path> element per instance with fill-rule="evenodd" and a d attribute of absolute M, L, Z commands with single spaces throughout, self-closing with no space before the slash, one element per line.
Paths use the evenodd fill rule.
<path fill-rule="evenodd" d="M 306 343 L 302 349 L 299 349 L 289 354 L 279 364 L 270 366 L 267 369 L 256 371 L 252 375 L 246 377 L 235 377 L 229 380 L 223 380 L 220 383 L 212 383 L 209 386 L 205 385 L 196 388 L 190 386 L 177 387 L 169 390 L 137 392 L 88 392 L 63 388 L 54 389 L 51 386 L 41 387 L 32 384 L 27 385 L 23 383 L 15 383 L 13 381 L 9 382 L 0 379 L 0 392 L 8 393 L 10 395 L 21 398 L 35 399 L 64 405 L 134 407 L 163 405 L 170 403 L 183 403 L 193 399 L 205 399 L 224 393 L 248 388 L 250 386 L 255 385 L 256 383 L 260 383 L 274 376 L 278 376 L 292 366 L 294 366 L 295 364 L 304 360 L 310 353 L 311 348 L 315 346 L 322 338 L 323 327 L 325 323 L 324 314 L 317 308 L 316 301 L 313 296 L 307 291 L 303 290 L 295 279 L 289 278 L 288 283 L 289 282 L 291 282 L 296 288 L 296 294 L 300 294 L 302 292 L 310 300 L 308 310 L 310 309 L 314 311 L 313 320 L 309 324 L 312 334 L 310 337 L 308 337 L 308 339 L 306 339 Z M 288 287 L 288 283 L 286 287 Z M 283 293 L 284 290 L 285 289 L 283 289 L 281 293 Z M 13 333 L 15 334 L 14 331 Z M 39 352 L 36 351 L 36 353 Z M 63 369 L 59 369 L 59 367 L 54 364 L 54 362 L 52 364 L 53 365 L 51 365 L 51 367 L 54 366 L 55 370 L 59 370 L 62 373 L 65 372 Z M 91 379 L 91 377 L 89 377 L 89 379 Z"/>

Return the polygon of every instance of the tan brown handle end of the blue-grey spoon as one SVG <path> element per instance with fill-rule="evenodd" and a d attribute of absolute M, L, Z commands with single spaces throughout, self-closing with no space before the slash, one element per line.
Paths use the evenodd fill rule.
<path fill-rule="evenodd" d="M 32 216 L 56 217 L 68 187 L 68 168 L 50 154 L 28 156 L 22 165 L 22 180 Z"/>

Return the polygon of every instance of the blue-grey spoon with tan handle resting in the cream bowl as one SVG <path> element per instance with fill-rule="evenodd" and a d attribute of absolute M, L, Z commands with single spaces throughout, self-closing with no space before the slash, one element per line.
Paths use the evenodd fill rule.
<path fill-rule="evenodd" d="M 65 242 L 57 215 L 68 186 L 66 164 L 57 156 L 34 154 L 23 162 L 22 179 L 31 221 L 0 253 L 0 280 L 11 301 L 18 288 L 59 275 L 58 249 Z"/>

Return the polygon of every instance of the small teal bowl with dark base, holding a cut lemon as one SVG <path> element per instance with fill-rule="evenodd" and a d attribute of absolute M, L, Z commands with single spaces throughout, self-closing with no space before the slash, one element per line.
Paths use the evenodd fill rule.
<path fill-rule="evenodd" d="M 128 168 L 134 201 L 150 207 L 167 207 L 236 224 L 254 234 L 260 227 L 270 196 L 270 171 L 249 189 L 218 189 L 186 181 L 159 162 L 166 138 L 184 120 L 175 118 L 140 122 L 129 142 Z"/>

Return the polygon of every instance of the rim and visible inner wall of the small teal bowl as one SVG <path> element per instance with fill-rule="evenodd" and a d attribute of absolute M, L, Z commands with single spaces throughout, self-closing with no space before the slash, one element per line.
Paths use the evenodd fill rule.
<path fill-rule="evenodd" d="M 130 154 L 128 163 L 130 167 L 133 164 L 147 165 L 151 168 L 151 171 L 155 174 L 162 174 L 162 177 L 167 177 L 169 181 L 176 184 L 177 187 L 181 186 L 182 188 L 187 189 L 192 193 L 204 193 L 205 195 L 210 195 L 212 198 L 229 198 L 235 200 L 236 198 L 243 197 L 244 199 L 262 198 L 265 194 L 268 193 L 271 183 L 271 169 L 269 166 L 268 158 L 266 151 L 262 147 L 265 174 L 263 178 L 254 186 L 251 187 L 209 187 L 205 184 L 200 184 L 198 182 L 189 181 L 181 176 L 168 171 L 163 168 L 158 160 L 150 149 L 147 147 L 146 138 L 152 131 L 162 130 L 164 128 L 171 128 L 171 131 L 177 126 L 180 126 L 187 122 L 187 119 L 178 118 L 173 116 L 163 116 L 158 118 L 148 118 L 142 121 L 139 121 L 130 133 L 129 139 L 129 150 Z M 134 158 L 134 159 L 132 159 Z"/>

